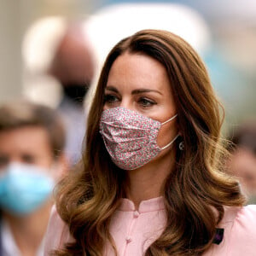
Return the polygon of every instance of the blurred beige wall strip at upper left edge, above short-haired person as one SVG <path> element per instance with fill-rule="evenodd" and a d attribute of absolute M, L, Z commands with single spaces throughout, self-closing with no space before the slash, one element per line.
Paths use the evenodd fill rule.
<path fill-rule="evenodd" d="M 20 1 L 1 0 L 0 102 L 21 93 Z"/>

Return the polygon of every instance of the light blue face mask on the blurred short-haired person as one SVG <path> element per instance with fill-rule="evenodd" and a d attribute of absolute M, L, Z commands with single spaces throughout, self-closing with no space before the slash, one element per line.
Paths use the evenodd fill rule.
<path fill-rule="evenodd" d="M 35 211 L 49 199 L 55 182 L 49 170 L 13 163 L 0 173 L 0 207 L 15 215 Z"/>

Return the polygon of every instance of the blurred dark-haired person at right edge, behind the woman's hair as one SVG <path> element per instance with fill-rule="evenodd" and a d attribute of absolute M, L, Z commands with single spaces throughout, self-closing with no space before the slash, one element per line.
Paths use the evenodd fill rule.
<path fill-rule="evenodd" d="M 229 140 L 228 172 L 239 178 L 249 203 L 256 203 L 256 120 L 238 125 Z"/>

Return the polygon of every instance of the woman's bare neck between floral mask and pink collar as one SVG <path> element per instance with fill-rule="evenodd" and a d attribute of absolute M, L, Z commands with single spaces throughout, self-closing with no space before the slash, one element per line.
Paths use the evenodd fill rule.
<path fill-rule="evenodd" d="M 169 154 L 167 158 L 151 161 L 136 170 L 127 171 L 127 198 L 138 208 L 141 201 L 163 195 L 163 185 L 173 166 L 174 158 Z"/>

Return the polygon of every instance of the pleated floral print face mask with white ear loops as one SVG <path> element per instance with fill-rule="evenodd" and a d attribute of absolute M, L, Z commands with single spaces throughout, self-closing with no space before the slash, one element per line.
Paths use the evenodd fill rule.
<path fill-rule="evenodd" d="M 113 163 L 124 170 L 134 170 L 154 159 L 161 150 L 174 143 L 179 134 L 165 147 L 160 148 L 156 139 L 161 125 L 147 116 L 127 108 L 109 108 L 102 112 L 100 133 Z"/>

